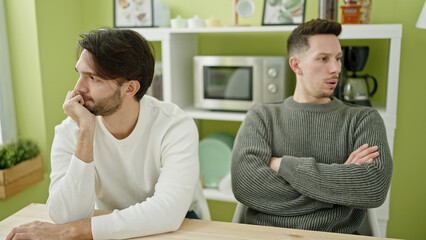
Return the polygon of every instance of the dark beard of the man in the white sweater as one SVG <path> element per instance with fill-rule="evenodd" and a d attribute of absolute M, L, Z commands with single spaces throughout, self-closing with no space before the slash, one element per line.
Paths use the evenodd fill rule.
<path fill-rule="evenodd" d="M 96 101 L 92 97 L 86 96 L 84 94 L 81 95 L 85 99 L 89 99 L 93 102 L 93 106 L 84 105 L 84 107 L 95 116 L 110 116 L 113 113 L 117 112 L 117 110 L 121 107 L 121 104 L 123 103 L 119 87 L 111 96 Z"/>

